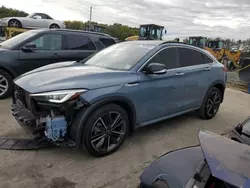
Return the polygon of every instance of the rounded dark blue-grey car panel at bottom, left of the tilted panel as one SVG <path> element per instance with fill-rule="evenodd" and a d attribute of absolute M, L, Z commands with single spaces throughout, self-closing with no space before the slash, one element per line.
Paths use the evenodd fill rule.
<path fill-rule="evenodd" d="M 169 187 L 183 188 L 195 174 L 202 159 L 204 156 L 200 146 L 168 152 L 144 169 L 140 175 L 140 181 L 147 187 L 151 186 L 158 178 L 162 178 Z"/>

